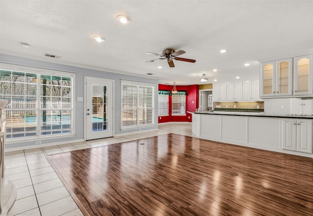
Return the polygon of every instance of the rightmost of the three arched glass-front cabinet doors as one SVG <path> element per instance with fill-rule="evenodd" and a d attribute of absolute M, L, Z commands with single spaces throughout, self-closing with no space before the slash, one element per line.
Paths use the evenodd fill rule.
<path fill-rule="evenodd" d="M 293 95 L 313 95 L 313 55 L 294 58 Z"/>

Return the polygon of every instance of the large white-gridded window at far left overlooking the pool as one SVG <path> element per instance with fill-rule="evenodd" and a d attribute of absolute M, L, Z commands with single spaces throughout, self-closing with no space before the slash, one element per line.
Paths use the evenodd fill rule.
<path fill-rule="evenodd" d="M 0 70 L 0 99 L 8 100 L 6 139 L 72 134 L 71 75 Z"/>

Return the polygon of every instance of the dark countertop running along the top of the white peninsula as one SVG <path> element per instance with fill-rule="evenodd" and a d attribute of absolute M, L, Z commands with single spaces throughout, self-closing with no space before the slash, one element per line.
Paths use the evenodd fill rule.
<path fill-rule="evenodd" d="M 271 114 L 236 114 L 236 113 L 219 113 L 219 112 L 191 112 L 195 114 L 203 114 L 203 115 L 232 115 L 232 116 L 252 116 L 252 117 L 268 117 L 268 118 L 300 118 L 300 119 L 313 119 L 313 115 L 271 115 Z"/>

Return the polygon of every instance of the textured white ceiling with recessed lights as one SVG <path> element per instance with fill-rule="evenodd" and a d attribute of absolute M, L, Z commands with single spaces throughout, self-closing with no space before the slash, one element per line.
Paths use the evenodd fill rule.
<path fill-rule="evenodd" d="M 119 23 L 120 14 L 132 22 Z M 106 41 L 95 42 L 95 35 Z M 197 62 L 145 63 L 157 58 L 145 52 L 166 48 L 182 49 L 179 57 Z M 0 0 L 0 52 L 153 73 L 161 84 L 202 84 L 202 73 L 207 83 L 257 79 L 260 62 L 313 53 L 313 0 Z"/>

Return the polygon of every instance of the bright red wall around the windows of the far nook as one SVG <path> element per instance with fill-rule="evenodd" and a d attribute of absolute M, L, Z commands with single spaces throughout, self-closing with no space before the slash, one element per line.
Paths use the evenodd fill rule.
<path fill-rule="evenodd" d="M 173 90 L 173 86 L 159 84 L 158 89 L 160 90 Z M 187 91 L 186 96 L 186 110 L 194 112 L 198 107 L 199 103 L 199 86 L 176 86 L 178 91 Z M 192 122 L 192 114 L 186 113 L 183 116 L 172 115 L 172 96 L 169 96 L 169 115 L 168 116 L 158 116 L 158 123 L 165 122 Z M 160 119 L 161 117 L 161 119 Z"/>

